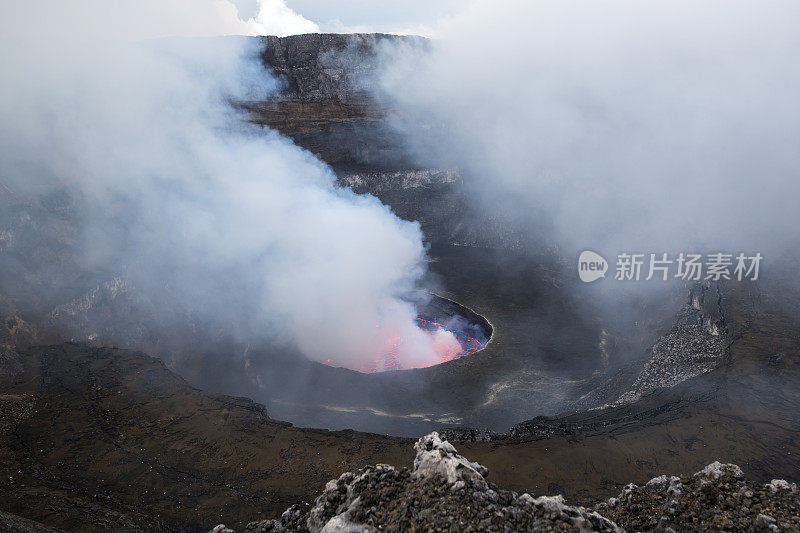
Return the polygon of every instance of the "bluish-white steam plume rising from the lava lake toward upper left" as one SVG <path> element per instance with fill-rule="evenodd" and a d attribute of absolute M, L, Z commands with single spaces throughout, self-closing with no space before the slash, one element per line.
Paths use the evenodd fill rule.
<path fill-rule="evenodd" d="M 224 33 L 207 24 L 226 4 L 4 9 L 0 190 L 66 189 L 87 270 L 123 272 L 238 338 L 359 368 L 390 332 L 405 340 L 404 365 L 429 361 L 439 341 L 416 327 L 408 299 L 425 272 L 418 224 L 233 113 L 230 101 L 275 88 L 249 41 L 126 42 L 152 36 L 165 12 L 179 26 L 162 35 Z M 274 8 L 295 31 L 281 6 L 261 2 L 250 22 Z"/>

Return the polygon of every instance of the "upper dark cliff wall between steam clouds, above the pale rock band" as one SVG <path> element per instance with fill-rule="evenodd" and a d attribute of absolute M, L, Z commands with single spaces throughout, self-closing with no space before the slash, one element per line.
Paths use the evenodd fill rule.
<path fill-rule="evenodd" d="M 267 102 L 248 102 L 253 122 L 276 129 L 337 169 L 408 165 L 401 139 L 384 124 L 387 110 L 369 88 L 378 51 L 419 37 L 311 34 L 261 37 L 261 59 L 282 84 Z"/>

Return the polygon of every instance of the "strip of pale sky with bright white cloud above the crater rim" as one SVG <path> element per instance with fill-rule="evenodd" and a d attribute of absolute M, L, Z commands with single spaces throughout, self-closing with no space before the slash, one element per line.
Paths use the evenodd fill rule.
<path fill-rule="evenodd" d="M 28 0 L 2 6 L 0 29 L 12 38 L 33 27 L 38 34 L 85 41 L 317 32 L 430 37 L 463 5 L 454 0 Z M 64 23 L 73 20 L 77 25 Z"/>

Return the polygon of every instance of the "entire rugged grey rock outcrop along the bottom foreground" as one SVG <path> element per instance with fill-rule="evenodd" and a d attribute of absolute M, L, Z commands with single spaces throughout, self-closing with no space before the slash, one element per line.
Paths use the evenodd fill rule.
<path fill-rule="evenodd" d="M 438 433 L 414 445 L 411 470 L 368 466 L 328 482 L 312 506 L 293 505 L 251 533 L 308 531 L 800 531 L 797 486 L 756 486 L 718 462 L 689 478 L 660 476 L 630 484 L 595 509 L 563 497 L 500 490 L 488 471 L 456 453 Z M 224 525 L 213 533 L 232 533 Z"/>

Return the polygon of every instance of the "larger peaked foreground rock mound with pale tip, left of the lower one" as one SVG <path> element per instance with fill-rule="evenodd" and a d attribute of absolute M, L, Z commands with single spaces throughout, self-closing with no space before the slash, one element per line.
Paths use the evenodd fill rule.
<path fill-rule="evenodd" d="M 486 481 L 486 468 L 458 455 L 437 433 L 419 439 L 414 450 L 411 470 L 377 465 L 347 472 L 313 506 L 292 506 L 280 520 L 252 523 L 247 531 L 620 531 L 560 496 L 498 489 Z"/>

